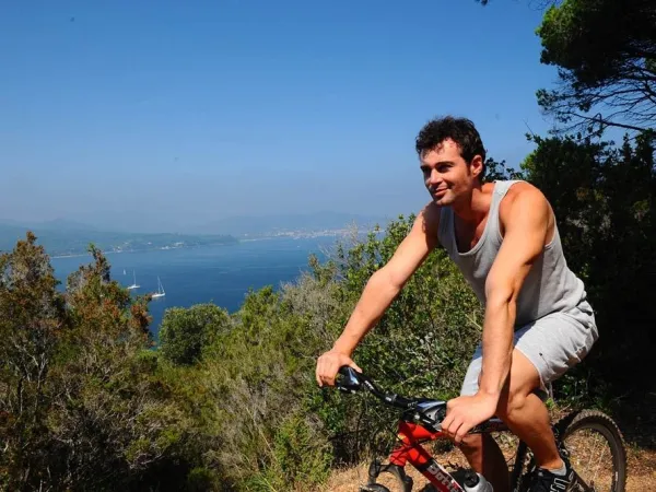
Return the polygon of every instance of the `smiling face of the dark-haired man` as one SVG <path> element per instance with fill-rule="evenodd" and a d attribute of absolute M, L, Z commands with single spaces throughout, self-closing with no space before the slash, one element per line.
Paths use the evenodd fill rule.
<path fill-rule="evenodd" d="M 480 186 L 479 175 L 483 171 L 481 156 L 477 154 L 467 163 L 460 154 L 460 147 L 450 138 L 424 151 L 420 164 L 424 185 L 440 207 L 468 199 L 473 188 Z"/>

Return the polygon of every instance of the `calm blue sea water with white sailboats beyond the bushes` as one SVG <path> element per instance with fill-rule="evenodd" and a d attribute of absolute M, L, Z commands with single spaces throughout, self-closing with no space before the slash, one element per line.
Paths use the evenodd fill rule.
<path fill-rule="evenodd" d="M 150 304 L 151 330 L 156 337 L 167 307 L 212 302 L 235 312 L 249 288 L 273 285 L 278 289 L 281 282 L 292 281 L 308 269 L 311 253 L 316 253 L 323 261 L 321 248 L 331 248 L 335 244 L 335 237 L 274 238 L 227 246 L 108 254 L 107 259 L 112 278 L 126 286 L 132 284 L 134 272 L 140 289 L 131 291 L 133 293 L 155 292 L 157 276 L 162 280 L 166 295 Z M 66 278 L 91 260 L 91 256 L 52 258 L 51 265 L 66 285 Z"/>

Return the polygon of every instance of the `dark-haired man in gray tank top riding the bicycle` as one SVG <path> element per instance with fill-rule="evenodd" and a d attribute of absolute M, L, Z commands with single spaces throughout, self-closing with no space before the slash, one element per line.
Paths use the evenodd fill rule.
<path fill-rule="evenodd" d="M 485 307 L 482 342 L 447 403 L 444 432 L 495 492 L 508 491 L 503 455 L 490 436 L 467 432 L 496 415 L 534 452 L 531 491 L 565 490 L 572 469 L 555 447 L 539 395 L 598 338 L 583 282 L 567 268 L 555 218 L 526 181 L 483 183 L 485 151 L 473 124 L 446 117 L 415 142 L 431 202 L 387 265 L 367 282 L 342 335 L 317 361 L 319 386 L 335 384 L 366 332 L 441 244 Z"/>

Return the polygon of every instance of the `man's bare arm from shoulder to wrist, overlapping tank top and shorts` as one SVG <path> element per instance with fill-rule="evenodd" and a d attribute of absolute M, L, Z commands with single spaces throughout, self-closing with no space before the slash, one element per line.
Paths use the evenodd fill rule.
<path fill-rule="evenodd" d="M 485 282 L 479 393 L 495 401 L 499 401 L 509 374 L 517 296 L 534 261 L 543 249 L 549 231 L 549 203 L 537 188 L 529 186 L 523 187 L 500 215 L 505 235 Z"/>

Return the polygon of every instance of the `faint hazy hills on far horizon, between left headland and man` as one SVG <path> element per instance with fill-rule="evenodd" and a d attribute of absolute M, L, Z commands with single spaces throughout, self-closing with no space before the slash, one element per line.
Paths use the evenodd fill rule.
<path fill-rule="evenodd" d="M 359 229 L 384 226 L 388 219 L 384 216 L 358 215 L 340 212 L 316 212 L 306 214 L 241 215 L 231 216 L 206 224 L 203 231 L 233 235 L 267 235 L 277 232 L 315 232 L 345 229 L 353 223 Z"/>

